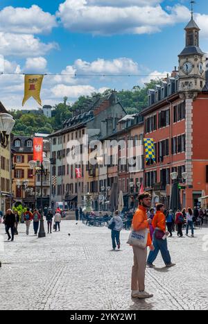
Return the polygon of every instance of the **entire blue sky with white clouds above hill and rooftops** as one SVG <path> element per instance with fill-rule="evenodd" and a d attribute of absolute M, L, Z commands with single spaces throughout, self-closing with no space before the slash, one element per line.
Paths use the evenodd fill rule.
<path fill-rule="evenodd" d="M 131 89 L 177 65 L 184 48 L 190 1 L 4 0 L 0 3 L 0 55 L 6 72 L 139 74 L 134 78 L 45 76 L 42 103 L 107 87 Z M 198 0 L 200 47 L 208 52 L 208 3 Z M 2 61 L 1 57 L 1 61 Z M 0 65 L 2 69 L 2 62 Z M 23 76 L 1 76 L 0 100 L 21 109 Z M 26 108 L 37 108 L 33 99 Z"/>

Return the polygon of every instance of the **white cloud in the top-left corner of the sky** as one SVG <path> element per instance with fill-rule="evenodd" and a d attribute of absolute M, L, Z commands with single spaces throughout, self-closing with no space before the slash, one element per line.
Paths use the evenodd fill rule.
<path fill-rule="evenodd" d="M 57 26 L 55 16 L 44 12 L 39 6 L 13 8 L 0 11 L 0 31 L 6 33 L 40 34 L 50 33 Z"/>

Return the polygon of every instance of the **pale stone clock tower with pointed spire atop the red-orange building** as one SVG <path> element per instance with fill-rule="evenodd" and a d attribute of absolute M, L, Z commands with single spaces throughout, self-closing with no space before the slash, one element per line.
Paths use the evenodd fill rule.
<path fill-rule="evenodd" d="M 194 97 L 205 86 L 206 57 L 199 46 L 200 28 L 193 19 L 185 28 L 186 46 L 179 57 L 179 92 L 186 97 Z"/>

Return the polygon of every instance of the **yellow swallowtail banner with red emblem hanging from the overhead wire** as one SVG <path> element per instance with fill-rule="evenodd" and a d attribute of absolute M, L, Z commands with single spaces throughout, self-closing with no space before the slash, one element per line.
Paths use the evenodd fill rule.
<path fill-rule="evenodd" d="M 22 105 L 26 103 L 26 101 L 33 96 L 33 98 L 39 103 L 39 105 L 42 105 L 41 99 L 40 99 L 40 90 L 42 87 L 42 80 L 44 76 L 43 75 L 29 75 L 26 74 L 24 77 L 24 99 L 22 101 Z"/>

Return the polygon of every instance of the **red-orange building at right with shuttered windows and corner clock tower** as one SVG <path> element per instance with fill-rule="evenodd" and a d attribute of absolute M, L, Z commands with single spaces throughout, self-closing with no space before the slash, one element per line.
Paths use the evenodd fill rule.
<path fill-rule="evenodd" d="M 153 138 L 155 164 L 145 166 L 145 188 L 154 203 L 169 206 L 177 172 L 182 207 L 200 207 L 208 195 L 208 73 L 200 50 L 200 29 L 193 17 L 185 28 L 186 46 L 179 55 L 179 70 L 149 90 L 144 109 L 144 137 Z"/>

